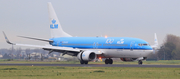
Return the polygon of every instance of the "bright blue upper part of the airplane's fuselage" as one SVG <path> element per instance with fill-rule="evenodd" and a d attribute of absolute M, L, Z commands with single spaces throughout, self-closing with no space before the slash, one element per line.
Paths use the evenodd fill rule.
<path fill-rule="evenodd" d="M 51 38 L 53 46 L 79 49 L 136 49 L 152 50 L 148 42 L 129 37 L 60 37 Z"/>

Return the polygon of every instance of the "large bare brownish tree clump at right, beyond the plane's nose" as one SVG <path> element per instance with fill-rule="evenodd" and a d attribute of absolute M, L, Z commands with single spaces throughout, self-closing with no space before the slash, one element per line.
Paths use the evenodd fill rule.
<path fill-rule="evenodd" d="M 172 34 L 168 34 L 164 40 L 164 43 L 157 50 L 156 54 L 150 55 L 149 59 L 179 60 L 180 37 Z"/>

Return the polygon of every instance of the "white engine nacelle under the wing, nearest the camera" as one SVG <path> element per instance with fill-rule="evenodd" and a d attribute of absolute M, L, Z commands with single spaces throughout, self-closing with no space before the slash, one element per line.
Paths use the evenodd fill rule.
<path fill-rule="evenodd" d="M 77 58 L 80 61 L 92 61 L 96 58 L 96 54 L 92 51 L 82 51 L 77 55 Z"/>

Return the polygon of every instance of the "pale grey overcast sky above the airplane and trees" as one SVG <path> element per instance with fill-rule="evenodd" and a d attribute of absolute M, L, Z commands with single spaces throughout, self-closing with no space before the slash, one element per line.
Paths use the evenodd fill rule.
<path fill-rule="evenodd" d="M 47 2 L 65 32 L 78 37 L 133 37 L 159 44 L 180 36 L 180 0 L 0 0 L 0 31 L 14 43 L 47 45 L 17 37 L 50 38 Z M 0 49 L 11 48 L 0 34 Z M 23 47 L 21 47 L 23 48 Z"/>

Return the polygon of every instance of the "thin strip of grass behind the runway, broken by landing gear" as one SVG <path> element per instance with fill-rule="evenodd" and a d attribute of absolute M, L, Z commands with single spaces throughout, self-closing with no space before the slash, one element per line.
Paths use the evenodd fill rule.
<path fill-rule="evenodd" d="M 29 64 L 80 64 L 79 61 L 52 61 L 52 62 L 42 62 L 42 61 L 5 61 L 0 60 L 0 63 L 29 63 Z M 122 62 L 114 61 L 113 64 L 137 64 L 138 62 Z M 104 64 L 104 62 L 89 62 L 89 64 Z M 180 60 L 159 60 L 159 61 L 143 61 L 143 64 L 147 65 L 180 65 Z"/>

